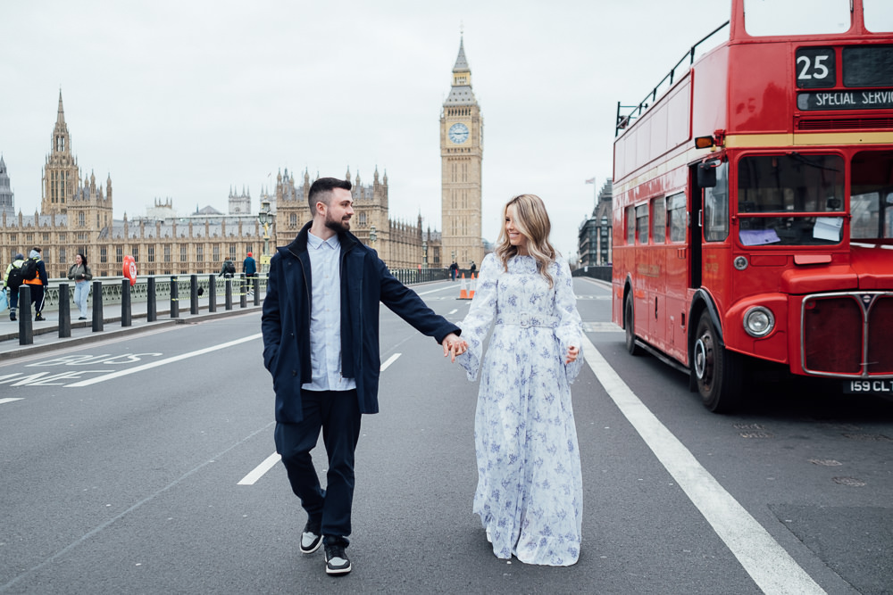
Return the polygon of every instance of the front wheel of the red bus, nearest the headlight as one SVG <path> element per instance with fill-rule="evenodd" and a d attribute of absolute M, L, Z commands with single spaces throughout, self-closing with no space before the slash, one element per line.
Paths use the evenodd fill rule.
<path fill-rule="evenodd" d="M 722 347 L 707 311 L 697 321 L 692 364 L 697 392 L 707 409 L 726 413 L 738 406 L 744 361 L 738 353 Z"/>

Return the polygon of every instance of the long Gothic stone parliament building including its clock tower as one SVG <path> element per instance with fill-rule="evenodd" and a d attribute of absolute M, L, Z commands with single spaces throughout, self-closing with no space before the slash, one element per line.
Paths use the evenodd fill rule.
<path fill-rule="evenodd" d="M 371 245 L 388 268 L 443 269 L 452 259 L 461 267 L 470 266 L 472 260 L 480 264 L 482 127 L 460 42 L 451 93 L 440 118 L 442 234 L 423 229 L 421 214 L 415 222 L 390 217 L 387 172 L 380 176 L 376 168 L 371 183 L 364 184 L 359 173 L 352 178 L 346 171 L 345 178 L 354 186 L 351 232 Z M 60 91 L 51 150 L 43 168 L 40 210 L 33 215 L 16 214 L 10 175 L 0 157 L 0 260 L 5 269 L 16 252 L 27 256 L 32 246 L 40 246 L 51 278 L 65 277 L 78 252 L 87 255 L 96 277 L 120 276 L 126 255 L 136 260 L 140 275 L 216 273 L 227 257 L 238 265 L 247 252 L 253 252 L 262 260 L 257 257 L 263 252 L 264 227 L 256 214 L 262 208 L 271 213 L 270 252 L 290 244 L 312 219 L 306 200 L 312 183 L 307 170 L 297 176 L 288 169 L 280 171 L 275 189 L 262 191 L 255 214 L 250 194 L 230 188 L 226 214 L 205 207 L 182 216 L 170 199 L 155 199 L 145 215 L 115 219 L 111 175 L 98 183 L 93 173 L 81 178 Z"/>

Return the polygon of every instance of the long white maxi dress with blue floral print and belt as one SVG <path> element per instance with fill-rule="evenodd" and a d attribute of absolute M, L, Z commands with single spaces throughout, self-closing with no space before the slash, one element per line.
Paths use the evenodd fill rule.
<path fill-rule="evenodd" d="M 582 366 L 582 326 L 571 269 L 549 267 L 550 289 L 530 256 L 505 271 L 494 254 L 480 266 L 471 309 L 460 327 L 468 379 L 481 369 L 474 445 L 478 488 L 473 512 L 497 558 L 570 566 L 580 556 L 582 479 L 570 383 Z M 495 323 L 481 366 L 482 343 Z M 570 345 L 580 355 L 564 364 Z"/>

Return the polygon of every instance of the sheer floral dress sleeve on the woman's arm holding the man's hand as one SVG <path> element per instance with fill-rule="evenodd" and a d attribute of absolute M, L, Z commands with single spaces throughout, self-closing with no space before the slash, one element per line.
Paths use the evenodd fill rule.
<path fill-rule="evenodd" d="M 468 342 L 468 351 L 456 358 L 472 382 L 478 378 L 480 361 L 483 359 L 484 340 L 493 324 L 497 312 L 497 280 L 502 273 L 502 265 L 492 253 L 480 263 L 478 286 L 474 291 L 472 305 L 459 328 L 462 338 Z"/>

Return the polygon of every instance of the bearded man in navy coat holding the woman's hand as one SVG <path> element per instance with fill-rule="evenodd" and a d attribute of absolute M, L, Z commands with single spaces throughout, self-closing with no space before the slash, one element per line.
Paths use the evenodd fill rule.
<path fill-rule="evenodd" d="M 351 183 L 313 182 L 313 220 L 277 248 L 263 301 L 263 365 L 276 392 L 276 450 L 307 512 L 300 550 L 325 544 L 327 574 L 351 570 L 354 452 L 363 413 L 377 413 L 379 302 L 458 355 L 461 332 L 393 277 L 378 254 L 349 232 Z M 329 457 L 322 489 L 310 451 L 322 430 Z"/>

